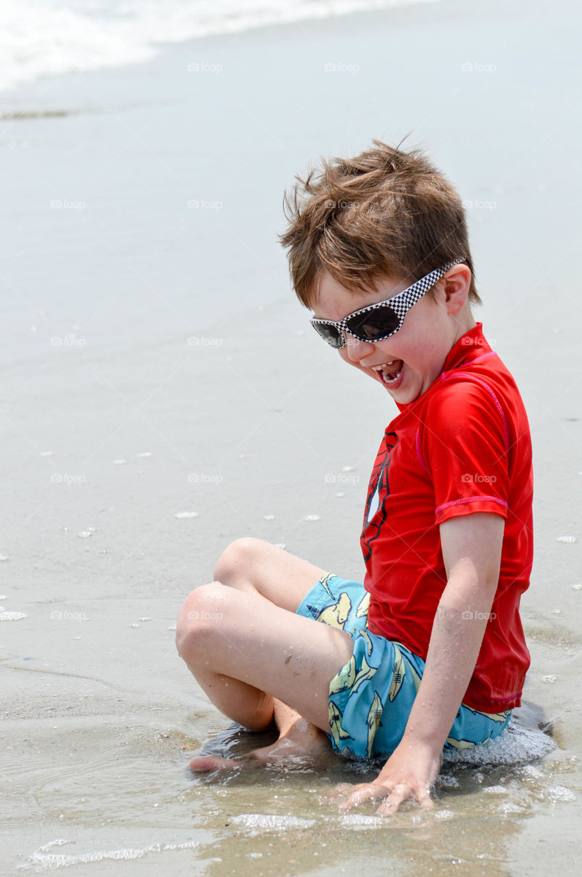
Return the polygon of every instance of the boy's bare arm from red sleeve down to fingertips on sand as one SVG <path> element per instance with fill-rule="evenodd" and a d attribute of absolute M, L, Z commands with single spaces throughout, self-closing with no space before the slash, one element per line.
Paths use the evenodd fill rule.
<path fill-rule="evenodd" d="M 440 525 L 447 584 L 404 736 L 378 778 L 357 786 L 342 809 L 369 798 L 385 798 L 382 814 L 394 813 L 408 798 L 432 806 L 429 790 L 477 663 L 497 589 L 504 526 L 500 515 L 482 512 Z"/>

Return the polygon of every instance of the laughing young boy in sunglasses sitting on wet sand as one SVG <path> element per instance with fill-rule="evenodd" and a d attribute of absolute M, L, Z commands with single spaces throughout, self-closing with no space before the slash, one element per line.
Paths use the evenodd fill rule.
<path fill-rule="evenodd" d="M 387 758 L 344 809 L 429 807 L 444 749 L 497 737 L 520 704 L 529 425 L 472 317 L 462 204 L 429 160 L 374 140 L 298 181 L 280 238 L 295 292 L 399 410 L 368 488 L 364 584 L 239 539 L 184 603 L 178 650 L 227 716 L 252 729 L 274 718 L 280 739 L 256 757 L 320 747 L 324 734 L 338 752 Z M 338 417 L 364 413 L 353 399 Z"/>

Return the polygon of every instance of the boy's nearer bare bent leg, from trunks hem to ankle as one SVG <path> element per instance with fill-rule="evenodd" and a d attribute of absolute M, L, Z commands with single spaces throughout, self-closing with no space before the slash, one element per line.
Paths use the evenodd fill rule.
<path fill-rule="evenodd" d="M 265 728 L 273 702 L 330 731 L 331 679 L 353 652 L 351 636 L 219 582 L 181 608 L 178 650 L 212 702 L 247 727 Z"/>

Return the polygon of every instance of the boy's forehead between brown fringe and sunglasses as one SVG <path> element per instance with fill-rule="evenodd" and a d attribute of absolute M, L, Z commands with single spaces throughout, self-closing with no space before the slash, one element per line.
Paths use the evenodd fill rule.
<path fill-rule="evenodd" d="M 311 308 L 314 317 L 337 322 L 354 310 L 366 308 L 369 304 L 384 302 L 387 298 L 397 295 L 406 283 L 387 276 L 379 276 L 366 282 L 366 289 L 351 289 L 338 282 L 328 271 L 318 277 L 314 288 Z"/>

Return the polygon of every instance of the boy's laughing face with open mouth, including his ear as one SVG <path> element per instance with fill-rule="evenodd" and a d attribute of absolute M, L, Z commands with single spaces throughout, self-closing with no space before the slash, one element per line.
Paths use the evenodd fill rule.
<path fill-rule="evenodd" d="M 466 266 L 451 268 L 433 289 L 436 301 L 425 293 L 408 311 L 398 332 L 376 342 L 360 341 L 345 332 L 339 355 L 379 381 L 396 402 L 414 402 L 441 374 L 451 347 L 475 325 L 466 300 L 470 282 Z M 354 310 L 397 295 L 409 285 L 384 278 L 376 283 L 376 290 L 354 295 L 324 272 L 314 316 L 338 321 Z"/>

